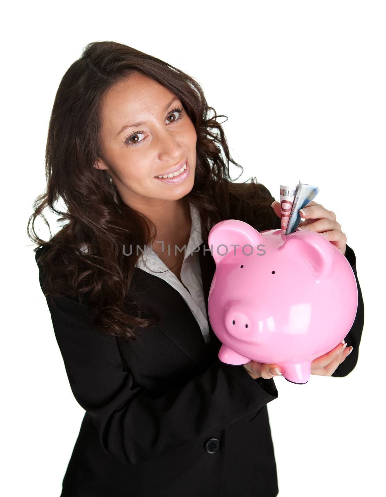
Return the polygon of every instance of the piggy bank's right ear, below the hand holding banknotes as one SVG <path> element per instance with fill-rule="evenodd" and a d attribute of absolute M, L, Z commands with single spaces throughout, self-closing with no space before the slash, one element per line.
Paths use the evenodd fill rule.
<path fill-rule="evenodd" d="M 296 231 L 285 236 L 280 251 L 291 258 L 299 257 L 311 267 L 318 280 L 329 275 L 335 261 L 332 245 L 320 233 L 314 231 Z"/>

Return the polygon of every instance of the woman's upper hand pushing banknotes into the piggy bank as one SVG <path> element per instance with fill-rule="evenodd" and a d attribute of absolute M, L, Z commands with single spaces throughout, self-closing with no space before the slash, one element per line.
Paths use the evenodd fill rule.
<path fill-rule="evenodd" d="M 275 214 L 281 219 L 280 202 L 272 202 Z M 340 224 L 336 221 L 336 216 L 332 211 L 324 209 L 321 204 L 313 200 L 300 211 L 304 221 L 299 224 L 298 230 L 310 230 L 322 233 L 322 235 L 338 248 L 343 255 L 346 253 L 346 235 L 342 232 Z"/>

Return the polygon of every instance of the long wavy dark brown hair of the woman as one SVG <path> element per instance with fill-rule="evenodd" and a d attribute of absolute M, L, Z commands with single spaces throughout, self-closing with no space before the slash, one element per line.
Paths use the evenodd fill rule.
<path fill-rule="evenodd" d="M 197 207 L 202 239 L 223 219 L 242 219 L 258 231 L 280 227 L 271 208 L 274 198 L 262 184 L 233 183 L 224 130 L 201 86 L 190 76 L 156 57 L 112 41 L 89 43 L 68 68 L 51 113 L 46 146 L 47 188 L 34 203 L 27 233 L 44 274 L 43 292 L 55 298 L 75 298 L 95 312 L 94 325 L 115 336 L 136 339 L 136 327 L 158 320 L 140 318 L 136 302 L 129 312 L 125 299 L 140 254 L 124 255 L 122 247 L 151 245 L 155 225 L 126 205 L 106 170 L 93 167 L 101 156 L 101 101 L 116 83 L 140 73 L 178 96 L 197 134 L 194 185 L 186 200 Z M 214 115 L 209 117 L 211 112 Z M 222 155 L 223 153 L 223 155 Z M 243 171 L 241 171 L 242 173 Z M 240 174 L 241 174 L 240 173 Z M 237 178 L 236 178 L 237 179 Z M 62 212 L 58 203 L 65 205 Z M 54 236 L 43 211 L 64 222 Z M 42 240 L 34 223 L 40 216 L 50 231 Z M 41 247 L 41 248 L 40 248 Z M 84 250 L 84 247 L 87 250 Z M 134 251 L 135 252 L 135 251 Z"/>

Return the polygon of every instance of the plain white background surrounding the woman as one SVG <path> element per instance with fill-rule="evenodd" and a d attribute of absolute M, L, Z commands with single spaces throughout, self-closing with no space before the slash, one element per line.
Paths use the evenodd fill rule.
<path fill-rule="evenodd" d="M 45 188 L 50 112 L 91 41 L 185 71 L 228 116 L 233 158 L 279 199 L 318 185 L 357 257 L 359 361 L 344 378 L 279 377 L 268 404 L 279 496 L 378 496 L 385 467 L 385 2 L 17 2 L 3 10 L 2 495 L 59 496 L 83 409 L 64 370 L 27 238 Z M 220 118 L 223 121 L 223 118 Z M 235 179 L 237 169 L 231 165 Z M 56 232 L 55 218 L 53 233 Z"/>

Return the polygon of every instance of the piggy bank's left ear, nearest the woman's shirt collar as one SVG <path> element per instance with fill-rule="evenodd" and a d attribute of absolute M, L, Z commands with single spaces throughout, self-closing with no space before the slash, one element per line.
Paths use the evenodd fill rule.
<path fill-rule="evenodd" d="M 210 230 L 208 244 L 217 265 L 226 253 L 235 253 L 235 247 L 232 245 L 240 246 L 236 247 L 236 254 L 239 251 L 241 253 L 242 247 L 245 245 L 252 245 L 255 249 L 257 245 L 263 244 L 263 235 L 260 235 L 253 226 L 244 221 L 225 219 L 215 224 Z M 251 252 L 250 247 L 245 250 L 246 253 Z"/>

